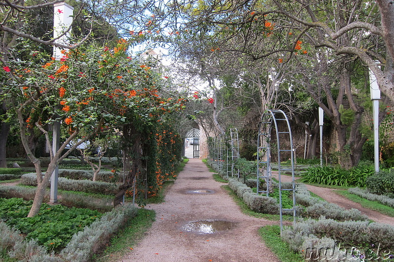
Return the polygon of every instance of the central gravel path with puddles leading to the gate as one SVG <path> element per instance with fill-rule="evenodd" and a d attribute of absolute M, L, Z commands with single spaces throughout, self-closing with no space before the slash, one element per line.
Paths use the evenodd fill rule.
<path fill-rule="evenodd" d="M 156 211 L 156 222 L 121 261 L 279 262 L 258 235 L 260 227 L 278 222 L 244 215 L 212 174 L 201 160 L 190 159 L 165 202 L 147 206 Z M 208 192 L 191 192 L 195 190 Z M 185 225 L 200 220 L 228 221 L 233 227 L 216 233 L 187 232 Z M 209 230 L 209 222 L 205 225 Z"/>

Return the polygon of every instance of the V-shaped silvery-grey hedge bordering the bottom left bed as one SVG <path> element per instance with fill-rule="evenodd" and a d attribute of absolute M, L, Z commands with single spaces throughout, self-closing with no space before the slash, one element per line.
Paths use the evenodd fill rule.
<path fill-rule="evenodd" d="M 18 231 L 11 230 L 0 221 L 0 250 L 9 250 L 8 255 L 20 262 L 87 262 L 105 246 L 111 236 L 125 223 L 135 217 L 138 209 L 132 205 L 118 206 L 100 220 L 74 234 L 66 248 L 55 257 L 34 240 L 24 241 Z"/>

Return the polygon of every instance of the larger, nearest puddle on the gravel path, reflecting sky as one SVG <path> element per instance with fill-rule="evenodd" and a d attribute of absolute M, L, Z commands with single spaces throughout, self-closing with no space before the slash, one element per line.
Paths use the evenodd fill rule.
<path fill-rule="evenodd" d="M 183 226 L 182 229 L 185 232 L 192 232 L 197 234 L 213 234 L 220 231 L 230 230 L 235 226 L 235 222 L 207 219 L 189 222 L 188 224 Z"/>

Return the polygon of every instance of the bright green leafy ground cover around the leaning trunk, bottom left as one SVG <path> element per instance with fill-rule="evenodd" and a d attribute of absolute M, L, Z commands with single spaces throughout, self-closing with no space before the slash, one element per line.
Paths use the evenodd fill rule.
<path fill-rule="evenodd" d="M 37 216 L 27 217 L 32 203 L 17 198 L 1 199 L 0 217 L 8 226 L 26 234 L 26 239 L 35 239 L 48 250 L 65 247 L 74 233 L 101 216 L 90 209 L 42 204 Z"/>

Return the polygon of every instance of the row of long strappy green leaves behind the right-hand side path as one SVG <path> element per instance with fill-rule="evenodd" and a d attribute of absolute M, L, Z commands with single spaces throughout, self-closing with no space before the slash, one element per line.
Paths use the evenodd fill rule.
<path fill-rule="evenodd" d="M 365 186 L 365 179 L 374 174 L 372 165 L 359 165 L 350 170 L 331 166 L 315 166 L 302 173 L 301 181 L 336 186 Z"/>

